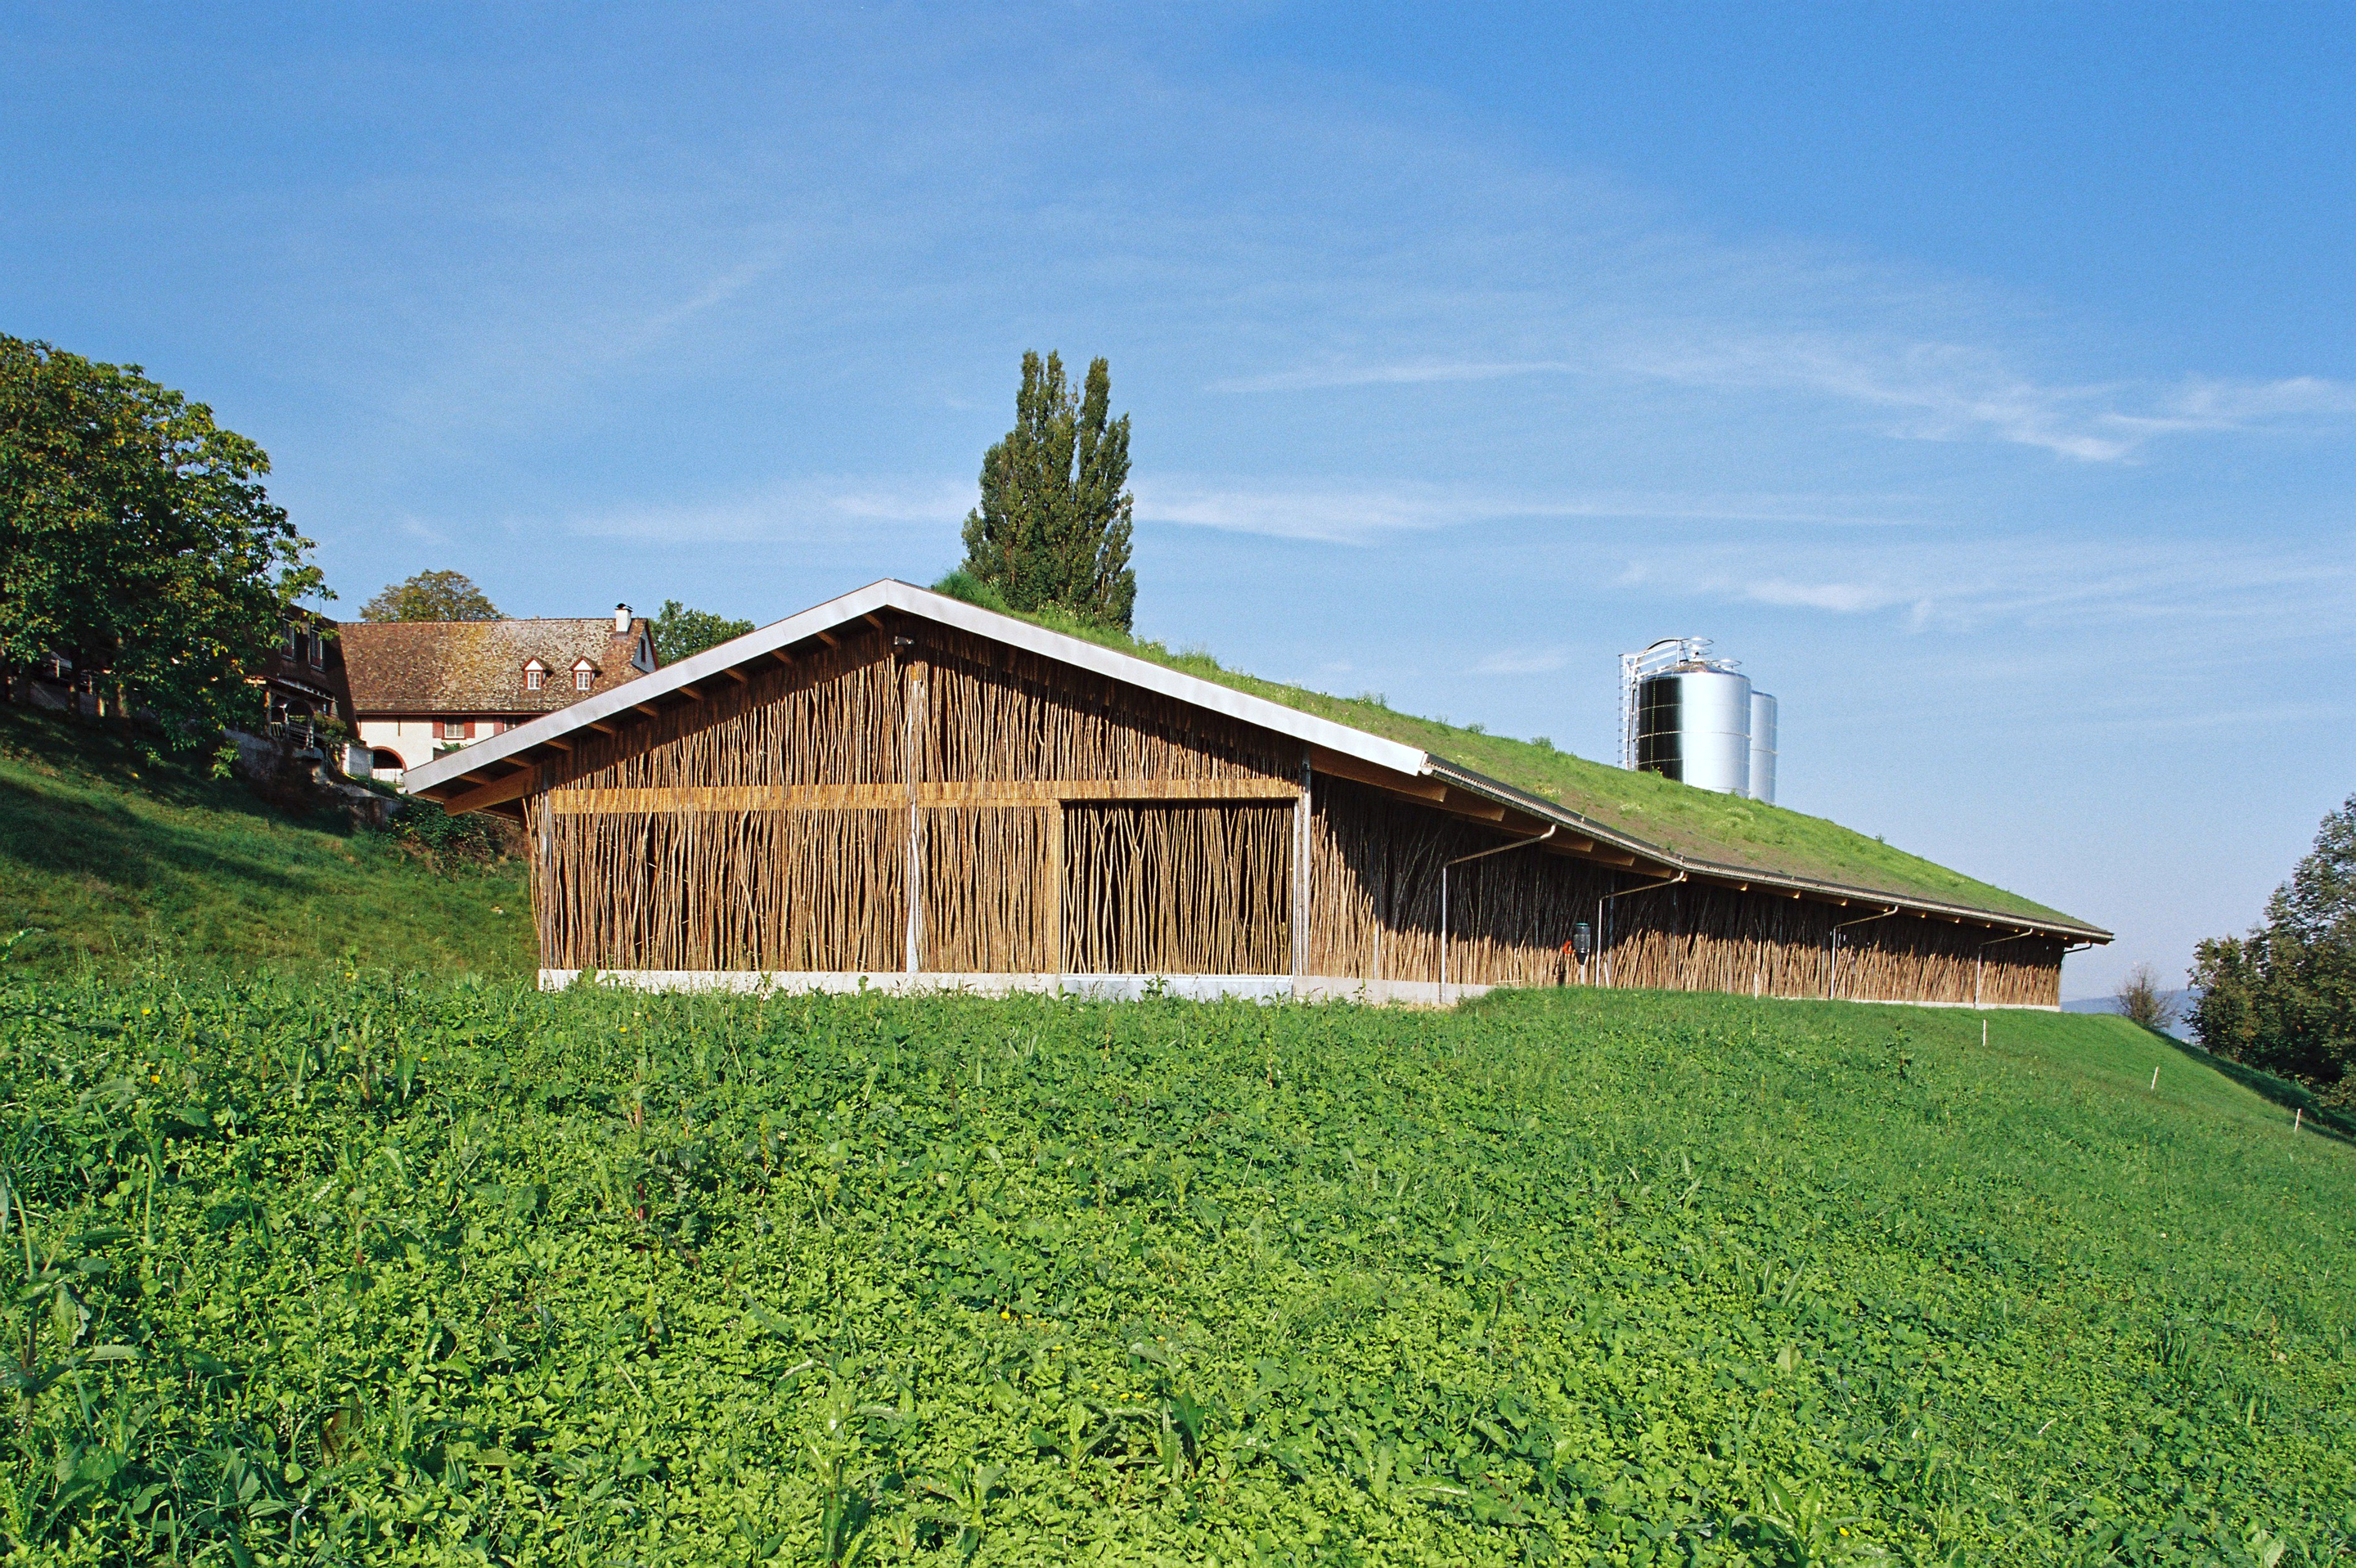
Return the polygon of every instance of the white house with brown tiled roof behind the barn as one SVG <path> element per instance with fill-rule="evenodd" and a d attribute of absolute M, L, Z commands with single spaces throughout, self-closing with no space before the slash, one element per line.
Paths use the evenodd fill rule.
<path fill-rule="evenodd" d="M 349 622 L 351 718 L 382 777 L 504 735 L 655 669 L 646 617 Z"/>

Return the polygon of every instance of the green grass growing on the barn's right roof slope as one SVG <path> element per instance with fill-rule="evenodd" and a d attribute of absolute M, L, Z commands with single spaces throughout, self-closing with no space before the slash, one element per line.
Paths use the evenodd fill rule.
<path fill-rule="evenodd" d="M 985 610 L 1006 610 L 987 589 L 978 589 L 961 574 L 949 574 L 938 591 L 964 598 Z M 1677 784 L 1654 772 L 1628 772 L 1571 756 L 1548 742 L 1522 742 L 1503 735 L 1487 735 L 1477 725 L 1451 725 L 1437 718 L 1416 718 L 1392 711 L 1381 697 L 1333 697 L 1298 685 L 1260 680 L 1220 666 L 1206 652 L 1171 652 L 1162 643 L 1131 638 L 1121 631 L 1088 626 L 1053 610 L 1020 614 L 1037 626 L 1112 647 L 1117 652 L 1152 659 L 1154 664 L 1216 680 L 1237 692 L 1249 692 L 1268 702 L 1329 718 L 1352 730 L 1381 735 L 1447 758 L 1458 768 L 1487 775 L 1498 784 L 1553 800 L 1579 812 L 1600 826 L 1640 838 L 1687 859 L 1715 862 L 1743 871 L 1767 871 L 1800 876 L 1821 883 L 1840 883 L 1864 892 L 1890 892 L 1904 899 L 1927 899 L 1955 904 L 1998 916 L 2026 916 L 2033 921 L 2064 921 L 2085 925 L 2059 909 L 2024 899 L 1977 878 L 1948 871 L 1946 866 L 1897 850 L 1880 838 L 1857 833 L 1807 812 L 1720 796 L 1692 784 Z"/>

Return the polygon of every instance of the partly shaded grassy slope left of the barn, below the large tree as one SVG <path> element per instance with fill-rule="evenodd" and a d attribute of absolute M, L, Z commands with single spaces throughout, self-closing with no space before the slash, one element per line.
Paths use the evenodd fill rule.
<path fill-rule="evenodd" d="M 0 942 L 12 968 L 170 954 L 438 972 L 532 970 L 523 869 L 434 871 L 375 833 L 292 822 L 203 765 L 0 706 Z"/>

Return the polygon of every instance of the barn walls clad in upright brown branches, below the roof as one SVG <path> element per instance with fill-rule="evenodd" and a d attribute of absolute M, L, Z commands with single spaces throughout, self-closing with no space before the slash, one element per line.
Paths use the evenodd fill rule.
<path fill-rule="evenodd" d="M 549 970 L 1440 979 L 1440 866 L 1515 843 L 1303 749 L 1037 655 L 888 626 L 580 732 L 528 805 Z M 914 876 L 912 876 L 914 848 Z M 1296 855 L 1308 876 L 1296 888 Z M 2059 946 L 1550 850 L 1449 873 L 1454 984 L 2052 1005 Z M 1649 878 L 1647 878 L 1649 881 Z M 909 890 L 914 885 L 914 909 Z M 1293 942 L 1296 899 L 1305 921 Z M 914 918 L 912 918 L 914 916 Z"/>

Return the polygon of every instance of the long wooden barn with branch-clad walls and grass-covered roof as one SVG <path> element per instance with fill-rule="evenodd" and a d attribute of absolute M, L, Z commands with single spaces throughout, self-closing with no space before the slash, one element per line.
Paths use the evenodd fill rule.
<path fill-rule="evenodd" d="M 2109 939 L 1814 817 L 1213 673 L 879 582 L 410 789 L 525 824 L 551 986 L 2052 1008 Z"/>

